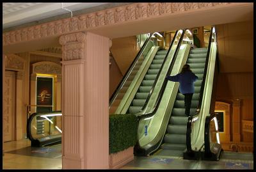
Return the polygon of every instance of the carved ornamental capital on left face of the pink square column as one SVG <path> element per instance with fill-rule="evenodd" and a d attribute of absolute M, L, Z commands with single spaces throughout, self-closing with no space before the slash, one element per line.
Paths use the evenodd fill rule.
<path fill-rule="evenodd" d="M 60 36 L 60 44 L 63 45 L 63 61 L 85 59 L 86 34 L 72 33 Z"/>

